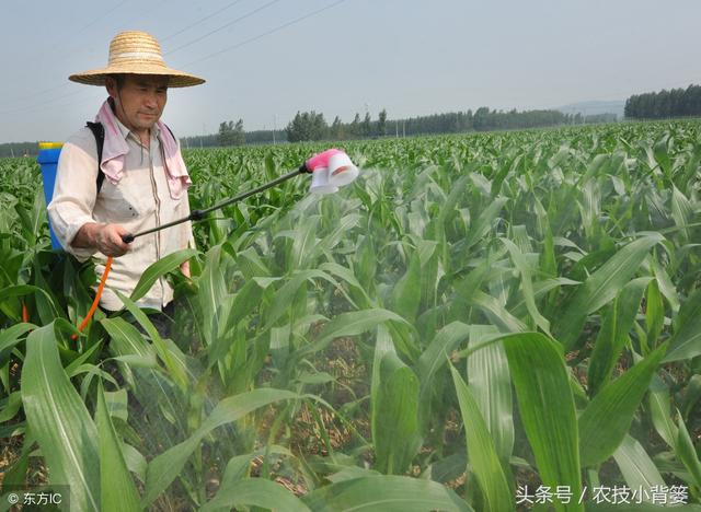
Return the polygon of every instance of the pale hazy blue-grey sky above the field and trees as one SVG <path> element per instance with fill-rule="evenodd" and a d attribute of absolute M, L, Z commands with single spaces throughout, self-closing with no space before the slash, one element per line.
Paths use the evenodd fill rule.
<path fill-rule="evenodd" d="M 92 120 L 106 92 L 68 75 L 106 66 L 125 30 L 207 80 L 169 91 L 163 120 L 187 137 L 239 118 L 281 129 L 298 110 L 349 123 L 686 88 L 701 83 L 699 20 L 698 0 L 3 0 L 0 142 Z"/>

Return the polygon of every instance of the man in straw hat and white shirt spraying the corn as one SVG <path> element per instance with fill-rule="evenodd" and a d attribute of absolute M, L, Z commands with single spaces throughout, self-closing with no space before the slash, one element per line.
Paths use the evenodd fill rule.
<path fill-rule="evenodd" d="M 189 222 L 129 244 L 122 236 L 189 214 L 192 182 L 179 143 L 160 118 L 169 88 L 198 85 L 204 80 L 168 68 L 159 43 L 145 32 L 117 34 L 110 44 L 106 68 L 72 74 L 69 80 L 107 90 L 110 96 L 95 117 L 104 129 L 102 159 L 97 162 L 99 136 L 89 127 L 64 144 L 48 213 L 64 248 L 80 261 L 94 256 L 99 276 L 106 257 L 114 256 L 100 300 L 110 313 L 123 307 L 113 290 L 130 295 L 149 265 L 195 246 Z M 189 276 L 187 263 L 181 271 Z M 168 315 L 172 300 L 173 289 L 161 278 L 138 305 Z"/>

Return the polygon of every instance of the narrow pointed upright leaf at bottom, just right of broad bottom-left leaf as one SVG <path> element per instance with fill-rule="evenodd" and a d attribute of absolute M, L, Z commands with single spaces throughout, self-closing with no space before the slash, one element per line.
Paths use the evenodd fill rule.
<path fill-rule="evenodd" d="M 127 469 L 117 432 L 112 424 L 105 394 L 100 384 L 95 412 L 100 435 L 100 485 L 103 511 L 138 511 L 139 494 Z"/>

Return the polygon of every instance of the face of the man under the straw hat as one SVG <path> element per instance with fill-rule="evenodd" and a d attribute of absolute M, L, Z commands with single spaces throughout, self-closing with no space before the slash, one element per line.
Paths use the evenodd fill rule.
<path fill-rule="evenodd" d="M 168 77 L 125 74 L 120 89 L 111 77 L 105 84 L 110 96 L 114 98 L 117 118 L 131 131 L 143 133 L 163 114 L 168 100 Z"/>

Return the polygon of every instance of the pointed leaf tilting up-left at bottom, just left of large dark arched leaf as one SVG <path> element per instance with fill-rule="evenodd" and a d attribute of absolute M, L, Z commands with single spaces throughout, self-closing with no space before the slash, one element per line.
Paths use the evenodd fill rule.
<path fill-rule="evenodd" d="M 480 407 L 458 371 L 453 366 L 450 366 L 450 371 L 464 423 L 470 469 L 480 482 L 484 510 L 514 510 L 514 498 Z"/>

